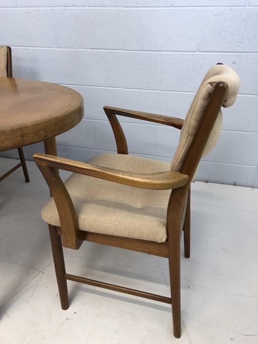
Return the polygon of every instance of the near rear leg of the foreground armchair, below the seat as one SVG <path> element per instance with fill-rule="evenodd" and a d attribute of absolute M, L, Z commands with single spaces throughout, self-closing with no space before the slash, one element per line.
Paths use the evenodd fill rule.
<path fill-rule="evenodd" d="M 177 241 L 177 242 L 176 242 Z M 170 245 L 169 253 L 170 287 L 172 299 L 173 331 L 175 338 L 181 337 L 180 300 L 180 238 Z"/>

